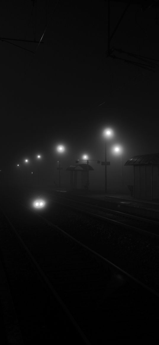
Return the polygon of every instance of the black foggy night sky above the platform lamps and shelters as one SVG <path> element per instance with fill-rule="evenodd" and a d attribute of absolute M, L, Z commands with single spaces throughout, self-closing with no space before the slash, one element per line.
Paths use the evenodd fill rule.
<path fill-rule="evenodd" d="M 32 4 L 1 2 L 0 37 L 33 40 L 36 12 L 40 40 L 56 1 L 37 0 L 31 17 Z M 125 6 L 111 2 L 111 31 Z M 159 8 L 141 12 L 136 4 L 111 46 L 159 59 L 158 35 Z M 106 58 L 106 1 L 59 0 L 42 41 L 34 55 L 0 41 L 2 167 L 37 151 L 56 159 L 58 143 L 67 146 L 68 165 L 84 152 L 104 160 L 101 134 L 106 127 L 114 130 L 111 144 L 123 146 L 125 161 L 159 151 L 159 68 L 152 72 Z"/>

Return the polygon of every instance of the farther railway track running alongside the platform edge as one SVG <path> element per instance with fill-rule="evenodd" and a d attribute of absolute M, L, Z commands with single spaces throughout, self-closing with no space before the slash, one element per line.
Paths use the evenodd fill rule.
<path fill-rule="evenodd" d="M 59 201 L 57 201 L 58 199 Z M 76 209 L 77 211 L 89 214 L 92 217 L 99 218 L 109 223 L 129 228 L 140 233 L 159 239 L 159 222 L 145 219 L 143 217 L 123 213 L 106 207 L 101 207 L 87 202 L 70 199 L 67 197 L 53 196 L 54 202 Z"/>

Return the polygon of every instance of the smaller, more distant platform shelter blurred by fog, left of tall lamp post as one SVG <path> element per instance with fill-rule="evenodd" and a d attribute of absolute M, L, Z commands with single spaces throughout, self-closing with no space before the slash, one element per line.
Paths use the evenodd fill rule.
<path fill-rule="evenodd" d="M 94 170 L 89 164 L 70 165 L 67 169 L 70 171 L 70 188 L 83 189 L 89 180 L 89 171 Z"/>

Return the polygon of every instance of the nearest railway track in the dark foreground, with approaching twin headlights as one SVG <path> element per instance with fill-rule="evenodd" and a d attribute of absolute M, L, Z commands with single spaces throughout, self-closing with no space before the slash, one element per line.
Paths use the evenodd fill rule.
<path fill-rule="evenodd" d="M 3 209 L 9 226 L 8 243 L 11 241 L 12 246 L 13 239 L 15 247 L 18 243 L 21 255 L 27 257 L 45 286 L 45 298 L 47 291 L 51 295 L 50 304 L 53 305 L 54 300 L 59 304 L 69 331 L 66 332 L 62 321 L 58 330 L 62 333 L 64 329 L 67 333 L 64 338 L 69 337 L 70 344 L 134 344 L 137 338 L 143 343 L 156 344 L 159 340 L 158 294 L 45 217 L 16 203 L 3 203 Z M 3 241 L 1 234 L 1 246 Z M 4 266 L 6 260 L 10 266 L 12 260 L 8 263 L 6 250 L 2 252 Z M 14 257 L 15 253 L 12 259 L 19 265 L 18 257 Z M 13 264 L 12 269 L 14 272 Z M 9 268 L 6 270 L 9 272 Z M 54 324 L 56 315 L 53 309 L 51 312 Z M 51 334 L 50 329 L 49 332 Z M 54 338 L 54 327 L 52 333 Z M 22 326 L 22 336 L 24 334 Z"/>

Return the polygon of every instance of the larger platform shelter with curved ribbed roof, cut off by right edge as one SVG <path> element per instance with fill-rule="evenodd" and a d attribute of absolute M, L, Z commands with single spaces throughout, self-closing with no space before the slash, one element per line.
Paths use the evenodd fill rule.
<path fill-rule="evenodd" d="M 159 199 L 159 153 L 134 156 L 125 165 L 133 165 L 134 197 Z"/>

